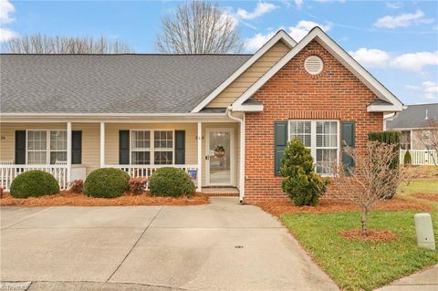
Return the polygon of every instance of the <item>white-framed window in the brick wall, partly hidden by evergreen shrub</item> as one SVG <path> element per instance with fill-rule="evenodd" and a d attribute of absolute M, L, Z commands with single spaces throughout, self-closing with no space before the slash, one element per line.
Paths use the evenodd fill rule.
<path fill-rule="evenodd" d="M 298 139 L 310 149 L 318 174 L 329 175 L 339 156 L 337 120 L 290 120 L 289 140 Z"/>

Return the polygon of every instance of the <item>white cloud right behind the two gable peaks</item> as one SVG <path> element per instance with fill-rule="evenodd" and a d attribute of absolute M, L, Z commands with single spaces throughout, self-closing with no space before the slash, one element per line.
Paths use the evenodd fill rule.
<path fill-rule="evenodd" d="M 300 41 L 308 32 L 315 26 L 321 27 L 324 31 L 328 31 L 331 25 L 320 25 L 313 21 L 301 20 L 296 26 L 289 26 L 286 29 L 284 27 L 279 27 L 278 29 L 285 29 L 289 36 L 292 36 L 294 40 Z M 266 34 L 258 33 L 253 37 L 247 38 L 245 42 L 245 48 L 247 51 L 255 51 L 258 48 L 266 44 L 272 36 L 276 34 L 276 31 L 270 31 Z"/>

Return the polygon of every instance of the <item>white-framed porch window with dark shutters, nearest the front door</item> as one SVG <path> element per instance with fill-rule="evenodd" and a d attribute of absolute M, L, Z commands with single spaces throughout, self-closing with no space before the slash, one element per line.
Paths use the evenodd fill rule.
<path fill-rule="evenodd" d="M 151 157 L 153 157 L 152 160 Z M 131 130 L 130 163 L 172 164 L 173 130 Z"/>

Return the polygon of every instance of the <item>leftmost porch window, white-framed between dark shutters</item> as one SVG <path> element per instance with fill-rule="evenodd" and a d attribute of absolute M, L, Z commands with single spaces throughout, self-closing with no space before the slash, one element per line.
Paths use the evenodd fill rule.
<path fill-rule="evenodd" d="M 67 161 L 66 130 L 27 130 L 27 164 Z"/>

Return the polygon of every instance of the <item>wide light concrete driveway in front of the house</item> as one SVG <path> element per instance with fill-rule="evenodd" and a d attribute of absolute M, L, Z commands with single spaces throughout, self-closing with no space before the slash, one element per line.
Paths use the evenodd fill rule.
<path fill-rule="evenodd" d="M 36 282 L 29 290 L 338 289 L 275 217 L 231 197 L 185 207 L 3 207 L 1 227 L 0 278 Z"/>

